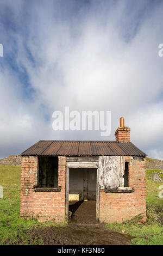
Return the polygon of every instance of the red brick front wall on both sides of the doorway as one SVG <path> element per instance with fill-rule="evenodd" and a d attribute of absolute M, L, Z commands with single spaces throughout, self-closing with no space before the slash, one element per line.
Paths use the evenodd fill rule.
<path fill-rule="evenodd" d="M 132 193 L 105 193 L 100 191 L 99 221 L 122 222 L 138 214 L 146 219 L 146 160 L 126 157 L 129 162 L 129 186 Z M 36 192 L 37 157 L 22 157 L 21 217 L 34 217 L 39 221 L 65 221 L 66 157 L 59 156 L 58 185 L 60 192 Z"/>

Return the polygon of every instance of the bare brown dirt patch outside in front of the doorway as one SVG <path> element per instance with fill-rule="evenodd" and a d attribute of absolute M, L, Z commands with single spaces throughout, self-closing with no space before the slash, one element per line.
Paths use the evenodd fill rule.
<path fill-rule="evenodd" d="M 29 231 L 30 243 L 35 238 L 45 245 L 126 245 L 129 236 L 119 234 L 99 225 L 69 224 L 66 227 L 43 227 Z"/>

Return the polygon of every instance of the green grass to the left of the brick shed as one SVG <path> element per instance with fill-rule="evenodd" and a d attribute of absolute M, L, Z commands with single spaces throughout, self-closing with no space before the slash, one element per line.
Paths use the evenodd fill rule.
<path fill-rule="evenodd" d="M 0 199 L 0 245 L 42 245 L 35 237 L 30 243 L 30 230 L 42 225 L 60 226 L 62 223 L 38 223 L 36 220 L 20 218 L 20 166 L 0 166 L 0 184 L 3 186 L 3 199 Z"/>

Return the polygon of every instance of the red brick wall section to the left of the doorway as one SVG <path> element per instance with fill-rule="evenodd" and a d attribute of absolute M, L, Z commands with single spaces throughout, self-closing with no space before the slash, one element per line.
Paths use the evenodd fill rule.
<path fill-rule="evenodd" d="M 34 186 L 37 185 L 37 157 L 22 157 L 21 217 L 34 217 L 39 221 L 65 221 L 65 156 L 59 156 L 58 172 L 60 192 L 36 192 Z"/>

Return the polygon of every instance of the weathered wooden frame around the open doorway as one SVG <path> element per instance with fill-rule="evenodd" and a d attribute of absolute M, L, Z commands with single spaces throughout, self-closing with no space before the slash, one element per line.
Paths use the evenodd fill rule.
<path fill-rule="evenodd" d="M 66 188 L 65 188 L 65 219 L 68 220 L 68 196 L 69 196 L 69 176 L 70 168 L 95 168 L 97 170 L 97 180 L 96 180 L 96 220 L 99 221 L 99 182 L 98 182 L 98 168 L 96 167 L 66 167 Z"/>

